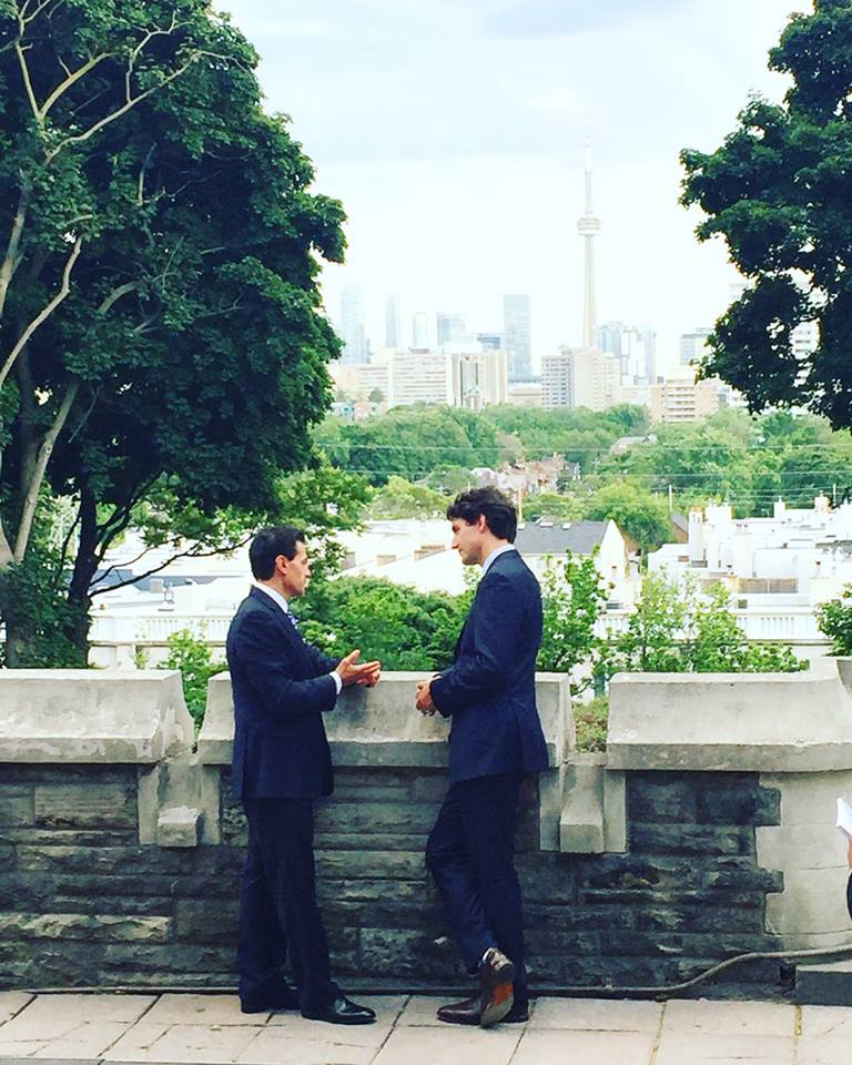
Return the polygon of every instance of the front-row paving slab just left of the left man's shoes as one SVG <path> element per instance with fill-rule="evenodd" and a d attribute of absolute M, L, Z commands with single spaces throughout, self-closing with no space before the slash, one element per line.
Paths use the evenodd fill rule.
<path fill-rule="evenodd" d="M 146 1024 L 133 1025 L 104 1055 L 106 1062 L 204 1063 L 235 1062 L 248 1048 L 261 1028 L 239 1024 Z"/>

